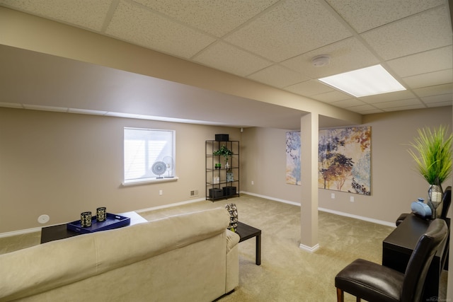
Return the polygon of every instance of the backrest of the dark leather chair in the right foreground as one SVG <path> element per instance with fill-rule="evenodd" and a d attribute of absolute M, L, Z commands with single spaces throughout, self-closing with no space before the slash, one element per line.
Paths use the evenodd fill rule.
<path fill-rule="evenodd" d="M 432 258 L 447 233 L 447 223 L 443 219 L 435 219 L 431 222 L 426 233 L 420 236 L 406 267 L 401 301 L 420 301 L 423 293 L 423 284 L 425 283 Z"/>

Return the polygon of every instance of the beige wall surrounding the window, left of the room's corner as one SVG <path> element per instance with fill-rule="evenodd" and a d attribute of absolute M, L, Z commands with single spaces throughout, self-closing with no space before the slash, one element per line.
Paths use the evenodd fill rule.
<path fill-rule="evenodd" d="M 176 182 L 123 187 L 123 127 L 176 130 Z M 0 233 L 205 197 L 205 140 L 236 128 L 0 108 Z M 159 190 L 164 194 L 159 196 Z M 45 226 L 44 225 L 44 226 Z"/>

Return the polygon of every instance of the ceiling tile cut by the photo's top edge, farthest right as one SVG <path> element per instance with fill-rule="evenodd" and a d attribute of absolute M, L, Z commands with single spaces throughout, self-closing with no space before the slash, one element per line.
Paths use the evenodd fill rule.
<path fill-rule="evenodd" d="M 357 33 L 445 4 L 445 0 L 326 0 Z"/>

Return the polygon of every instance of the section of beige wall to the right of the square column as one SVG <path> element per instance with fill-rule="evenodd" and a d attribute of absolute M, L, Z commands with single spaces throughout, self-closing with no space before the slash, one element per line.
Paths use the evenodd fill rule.
<path fill-rule="evenodd" d="M 399 214 L 410 212 L 411 202 L 428 198 L 428 182 L 415 172 L 415 165 L 406 144 L 418 136 L 421 127 L 449 126 L 452 130 L 451 108 L 408 110 L 365 115 L 364 125 L 372 127 L 372 195 L 338 193 L 320 190 L 319 206 L 393 223 Z M 442 184 L 452 185 L 451 180 Z"/>

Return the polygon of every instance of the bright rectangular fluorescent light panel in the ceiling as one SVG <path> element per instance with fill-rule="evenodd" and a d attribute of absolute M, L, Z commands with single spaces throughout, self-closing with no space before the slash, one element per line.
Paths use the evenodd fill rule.
<path fill-rule="evenodd" d="M 319 79 L 334 88 L 357 98 L 367 95 L 389 93 L 406 90 L 396 79 L 389 74 L 381 65 L 374 65 L 364 69 L 357 69 L 327 76 Z"/>

